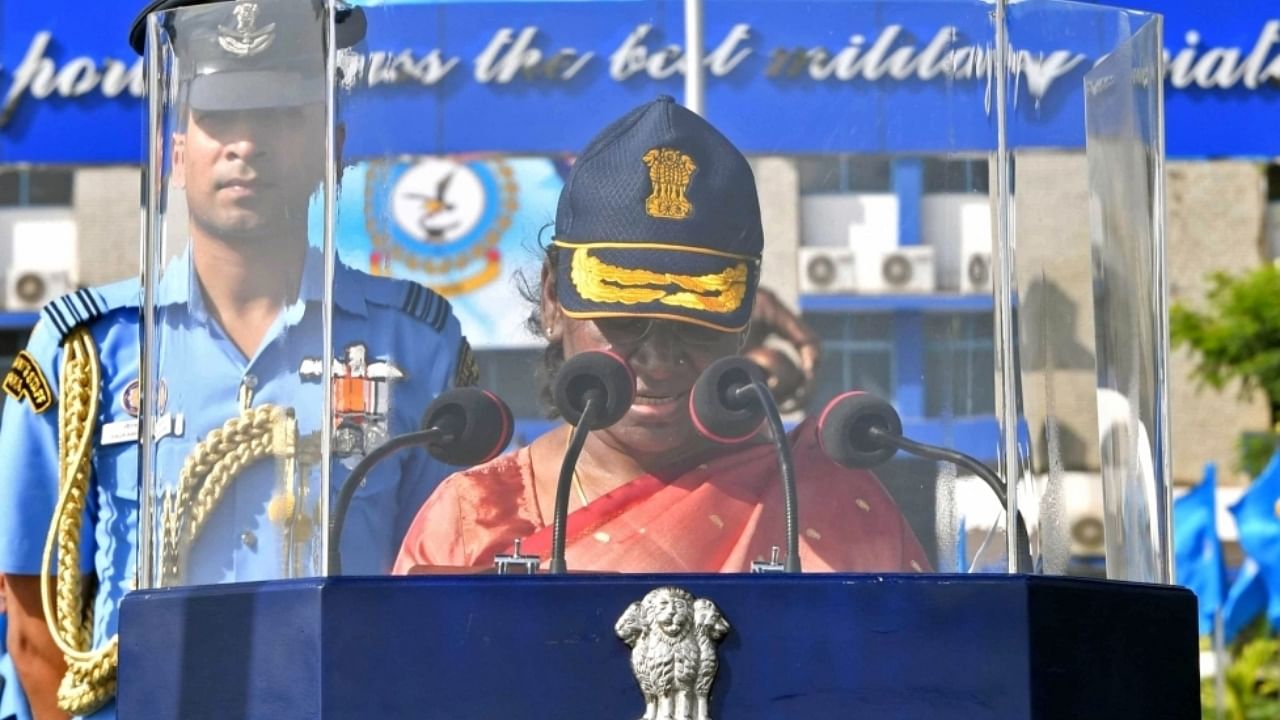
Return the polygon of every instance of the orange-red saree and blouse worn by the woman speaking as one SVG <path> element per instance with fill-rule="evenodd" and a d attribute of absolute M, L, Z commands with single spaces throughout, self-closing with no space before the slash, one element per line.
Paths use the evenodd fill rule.
<path fill-rule="evenodd" d="M 836 465 L 817 423 L 788 434 L 797 478 L 800 559 L 806 571 L 920 571 L 924 552 L 897 506 L 868 471 Z M 568 516 L 573 570 L 736 573 L 783 547 L 782 486 L 772 445 L 728 450 L 673 480 L 641 475 Z M 550 518 L 539 512 L 529 448 L 444 480 L 415 518 L 396 560 L 489 568 L 522 538 L 550 555 Z"/>

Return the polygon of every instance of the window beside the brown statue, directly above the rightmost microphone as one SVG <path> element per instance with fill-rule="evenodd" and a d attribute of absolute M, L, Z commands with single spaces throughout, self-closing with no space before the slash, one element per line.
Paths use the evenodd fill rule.
<path fill-rule="evenodd" d="M 850 389 L 893 397 L 891 314 L 810 313 L 804 320 L 822 337 L 822 365 L 809 398 L 809 414 L 820 413 L 832 397 Z"/>

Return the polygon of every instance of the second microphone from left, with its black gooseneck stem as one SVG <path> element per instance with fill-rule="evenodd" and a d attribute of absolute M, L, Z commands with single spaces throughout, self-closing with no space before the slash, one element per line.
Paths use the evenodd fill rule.
<path fill-rule="evenodd" d="M 631 409 L 636 397 L 636 377 L 626 360 L 614 352 L 590 350 L 570 357 L 556 375 L 552 388 L 556 409 L 573 425 L 561 474 L 556 484 L 556 512 L 552 525 L 552 557 L 548 570 L 563 574 L 564 533 L 568 518 L 568 491 L 573 469 L 582 455 L 590 430 L 608 428 Z"/>

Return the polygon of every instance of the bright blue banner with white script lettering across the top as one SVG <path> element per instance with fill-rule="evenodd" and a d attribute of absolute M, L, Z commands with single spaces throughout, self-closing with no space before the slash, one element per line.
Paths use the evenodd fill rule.
<path fill-rule="evenodd" d="M 1166 15 L 1169 154 L 1280 155 L 1275 3 L 1129 1 Z M 125 35 L 141 5 L 3 4 L 0 163 L 140 161 L 142 64 Z M 678 3 L 387 4 L 369 15 L 367 42 L 348 59 L 365 83 L 349 108 L 357 154 L 572 151 L 600 118 L 681 95 Z M 988 149 L 989 18 L 977 0 L 709 0 L 707 114 L 753 152 Z M 1079 146 L 1084 74 L 1146 19 L 1011 5 L 1011 142 Z"/>

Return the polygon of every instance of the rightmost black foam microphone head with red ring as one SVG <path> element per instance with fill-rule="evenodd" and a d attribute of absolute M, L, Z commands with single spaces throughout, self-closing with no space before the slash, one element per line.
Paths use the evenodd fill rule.
<path fill-rule="evenodd" d="M 845 468 L 874 468 L 887 462 L 896 447 L 870 436 L 872 428 L 902 434 L 902 419 L 883 398 L 867 392 L 837 395 L 818 418 L 818 445 Z"/>

